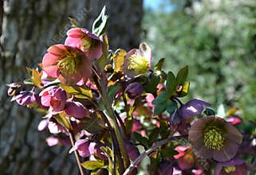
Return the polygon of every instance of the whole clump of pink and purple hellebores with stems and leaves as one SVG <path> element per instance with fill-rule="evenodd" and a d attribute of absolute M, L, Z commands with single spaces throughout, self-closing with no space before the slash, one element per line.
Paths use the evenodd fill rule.
<path fill-rule="evenodd" d="M 216 116 L 202 99 L 183 103 L 188 67 L 164 72 L 146 43 L 112 52 L 107 24 L 104 8 L 92 32 L 69 29 L 39 68 L 28 68 L 29 79 L 8 84 L 11 101 L 43 116 L 47 144 L 68 146 L 81 174 L 253 172 L 255 134 L 237 129 L 237 110 Z"/>

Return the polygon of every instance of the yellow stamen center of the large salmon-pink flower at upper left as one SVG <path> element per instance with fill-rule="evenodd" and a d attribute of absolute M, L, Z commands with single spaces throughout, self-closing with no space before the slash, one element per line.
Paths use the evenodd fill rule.
<path fill-rule="evenodd" d="M 77 56 L 65 56 L 64 59 L 58 61 L 57 66 L 59 72 L 67 76 L 77 72 L 77 65 L 79 63 L 80 59 Z"/>

